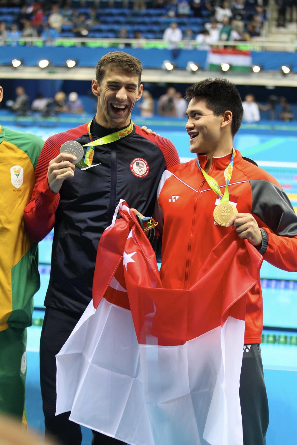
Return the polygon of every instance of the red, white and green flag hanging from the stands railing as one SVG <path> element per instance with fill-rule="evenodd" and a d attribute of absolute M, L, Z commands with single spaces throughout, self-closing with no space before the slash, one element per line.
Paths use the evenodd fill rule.
<path fill-rule="evenodd" d="M 231 48 L 213 48 L 207 54 L 207 69 L 220 71 L 221 64 L 228 63 L 231 71 L 250 72 L 252 55 L 250 51 Z"/>

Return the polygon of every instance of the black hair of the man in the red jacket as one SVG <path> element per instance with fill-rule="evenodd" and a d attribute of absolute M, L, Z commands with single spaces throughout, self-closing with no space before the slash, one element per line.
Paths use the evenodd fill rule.
<path fill-rule="evenodd" d="M 186 99 L 204 100 L 207 108 L 211 109 L 215 116 L 220 116 L 225 111 L 232 112 L 231 132 L 232 137 L 237 133 L 242 121 L 244 110 L 241 98 L 235 85 L 226 79 L 204 79 L 186 90 Z"/>

